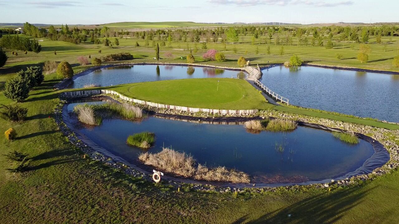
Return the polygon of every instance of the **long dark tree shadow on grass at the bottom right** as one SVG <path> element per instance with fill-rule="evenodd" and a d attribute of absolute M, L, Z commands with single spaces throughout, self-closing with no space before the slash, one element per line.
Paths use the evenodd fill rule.
<path fill-rule="evenodd" d="M 340 220 L 347 210 L 360 204 L 364 200 L 363 197 L 374 189 L 366 190 L 361 186 L 334 193 L 326 191 L 265 214 L 249 223 L 334 223 Z"/>

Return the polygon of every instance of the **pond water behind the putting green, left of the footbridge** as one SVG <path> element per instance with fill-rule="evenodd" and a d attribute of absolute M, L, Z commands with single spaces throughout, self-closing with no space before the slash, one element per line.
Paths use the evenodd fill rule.
<path fill-rule="evenodd" d="M 176 65 L 122 65 L 98 69 L 73 80 L 69 88 L 82 88 L 85 84 L 100 84 L 101 86 L 119 85 L 125 83 L 141 83 L 150 81 L 190 78 L 231 78 L 243 72 L 205 67 L 188 67 Z"/>

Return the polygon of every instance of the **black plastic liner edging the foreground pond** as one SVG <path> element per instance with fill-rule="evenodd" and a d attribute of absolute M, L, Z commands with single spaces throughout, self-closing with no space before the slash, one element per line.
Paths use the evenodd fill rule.
<path fill-rule="evenodd" d="M 108 97 L 105 97 L 108 98 Z M 67 110 L 68 104 L 65 104 L 62 108 L 62 120 L 72 132 L 75 133 L 77 138 L 79 138 L 83 143 L 85 143 L 87 146 L 91 147 L 94 151 L 97 151 L 101 153 L 102 155 L 106 157 L 110 157 L 113 159 L 115 162 L 120 162 L 124 163 L 125 165 L 128 165 L 129 167 L 136 169 L 137 171 L 140 171 L 141 173 L 144 173 L 146 175 L 152 175 L 152 170 L 154 167 L 150 167 L 148 165 L 140 164 L 138 162 L 137 164 L 132 164 L 124 160 L 123 158 L 119 156 L 115 156 L 107 149 L 97 145 L 94 143 L 91 139 L 87 138 L 84 134 L 81 134 L 79 132 L 79 128 L 75 127 L 74 123 L 77 122 L 77 119 L 71 119 L 68 110 Z M 215 117 L 215 118 L 203 118 L 203 117 L 193 117 L 193 116 L 185 116 L 185 115 L 178 115 L 178 114 L 163 114 L 163 113 L 158 113 L 158 112 L 149 112 L 150 115 L 152 116 L 160 116 L 160 117 L 165 117 L 165 118 L 174 118 L 174 119 L 179 119 L 179 120 L 193 120 L 193 121 L 204 121 L 204 122 L 245 122 L 248 120 L 261 120 L 262 118 L 259 116 L 256 117 L 250 117 L 250 118 L 245 118 L 245 117 Z M 271 117 L 271 119 L 274 119 Z M 320 124 L 312 124 L 312 123 L 307 123 L 307 122 L 298 122 L 298 125 L 304 126 L 304 127 L 309 127 L 309 128 L 315 128 L 319 130 L 326 130 L 330 132 L 345 132 L 342 129 L 339 128 L 330 128 L 324 125 Z M 369 142 L 374 149 L 374 154 L 368 158 L 361 167 L 356 169 L 353 172 L 347 173 L 346 175 L 343 175 L 338 178 L 334 178 L 334 180 L 343 180 L 346 178 L 350 178 L 353 176 L 357 175 L 364 175 L 364 174 L 369 174 L 373 172 L 374 169 L 377 169 L 379 167 L 382 167 L 385 163 L 387 163 L 390 159 L 389 153 L 387 149 L 377 140 L 357 133 L 355 132 L 356 136 L 362 140 L 365 140 Z M 187 178 L 182 178 L 182 177 L 176 177 L 176 176 L 171 176 L 171 175 L 165 175 L 162 176 L 162 179 L 166 180 L 171 180 L 175 182 L 183 182 L 183 183 L 192 183 L 192 184 L 200 184 L 200 185 L 213 185 L 217 187 L 238 187 L 238 188 L 262 188 L 262 187 L 281 187 L 281 186 L 290 186 L 290 185 L 310 185 L 310 184 L 318 184 L 318 183 L 330 183 L 331 179 L 324 179 L 320 181 L 305 181 L 305 182 L 300 182 L 300 183 L 226 183 L 226 182 L 208 182 L 208 181 L 198 181 L 194 179 L 187 179 Z"/>

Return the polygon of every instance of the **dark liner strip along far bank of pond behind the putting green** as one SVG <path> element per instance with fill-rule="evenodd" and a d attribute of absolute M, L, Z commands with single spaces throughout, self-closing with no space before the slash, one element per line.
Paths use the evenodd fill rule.
<path fill-rule="evenodd" d="M 126 65 L 170 65 L 170 66 L 186 66 L 186 67 L 203 67 L 203 68 L 211 68 L 211 69 L 223 69 L 223 70 L 231 70 L 231 71 L 242 71 L 242 72 L 247 72 L 245 70 L 241 70 L 241 69 L 233 69 L 233 68 L 219 68 L 219 67 L 214 67 L 212 65 L 187 65 L 187 64 L 164 64 L 164 63 L 126 63 L 126 64 L 110 64 L 110 65 L 101 65 L 101 66 L 97 66 L 97 67 L 91 67 L 89 69 L 86 69 L 84 71 L 82 71 L 81 73 L 74 75 L 72 78 L 67 78 L 67 79 L 63 79 L 60 83 L 55 84 L 55 88 L 59 88 L 59 89 L 65 89 L 68 88 L 68 86 L 70 86 L 73 81 L 83 75 L 87 75 L 92 73 L 93 71 L 99 70 L 99 69 L 105 69 L 105 68 L 109 68 L 109 67 L 117 67 L 117 66 L 126 66 Z"/>

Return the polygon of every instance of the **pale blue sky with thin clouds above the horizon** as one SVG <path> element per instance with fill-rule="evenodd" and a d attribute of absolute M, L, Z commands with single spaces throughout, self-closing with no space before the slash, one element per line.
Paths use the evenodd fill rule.
<path fill-rule="evenodd" d="M 399 0 L 0 0 L 0 23 L 399 22 Z"/>

